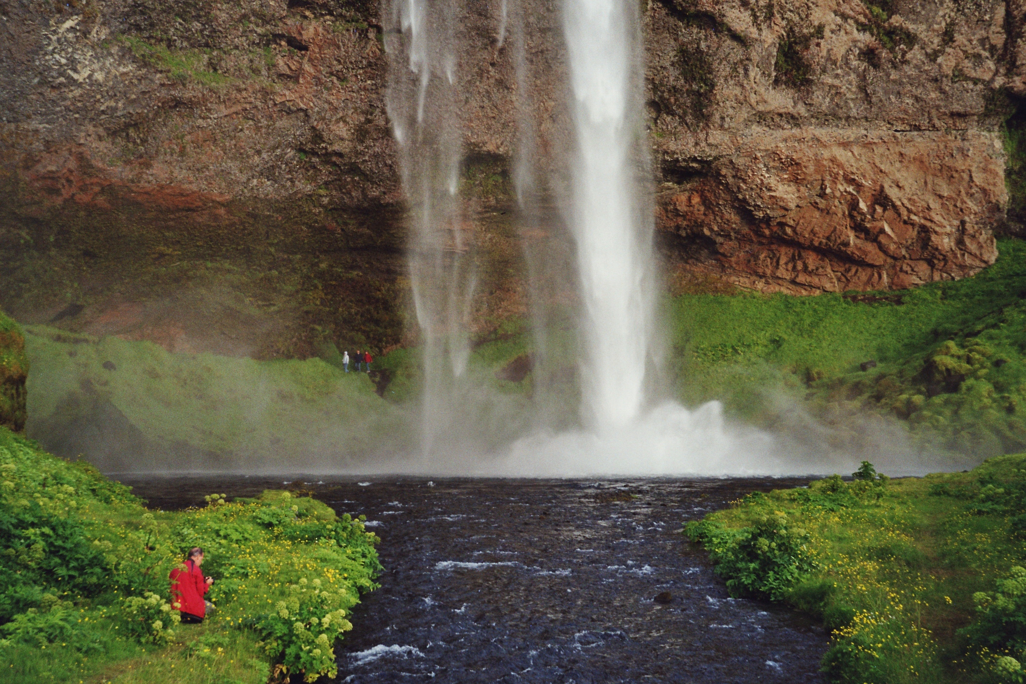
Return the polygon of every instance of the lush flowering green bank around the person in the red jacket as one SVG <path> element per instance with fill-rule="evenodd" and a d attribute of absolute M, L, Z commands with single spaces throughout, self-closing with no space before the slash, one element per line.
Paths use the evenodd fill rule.
<path fill-rule="evenodd" d="M 285 491 L 183 513 L 0 428 L 0 682 L 235 682 L 333 676 L 333 644 L 376 588 L 362 518 Z M 168 573 L 201 546 L 216 609 L 180 625 Z"/>

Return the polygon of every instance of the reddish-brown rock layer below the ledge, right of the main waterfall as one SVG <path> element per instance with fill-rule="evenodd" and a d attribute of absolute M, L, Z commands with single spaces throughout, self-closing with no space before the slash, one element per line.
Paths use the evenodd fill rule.
<path fill-rule="evenodd" d="M 952 280 L 996 258 L 1008 198 L 993 133 L 759 131 L 729 144 L 702 182 L 659 197 L 660 229 L 705 245 L 699 269 L 813 293 Z"/>

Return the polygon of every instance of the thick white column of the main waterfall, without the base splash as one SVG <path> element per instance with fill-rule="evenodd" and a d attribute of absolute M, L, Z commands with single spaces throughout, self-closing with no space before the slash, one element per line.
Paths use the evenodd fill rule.
<path fill-rule="evenodd" d="M 570 225 L 578 247 L 585 344 L 583 417 L 629 425 L 644 399 L 650 347 L 652 218 L 634 172 L 641 152 L 636 3 L 564 0 L 577 138 Z"/>

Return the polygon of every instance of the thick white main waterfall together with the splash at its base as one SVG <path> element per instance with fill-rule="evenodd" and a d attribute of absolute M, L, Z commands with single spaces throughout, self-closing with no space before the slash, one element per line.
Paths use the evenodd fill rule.
<path fill-rule="evenodd" d="M 654 220 L 643 179 L 638 8 L 563 0 L 569 155 L 567 223 L 577 247 L 583 429 L 540 432 L 482 470 L 509 475 L 786 472 L 757 431 L 727 431 L 722 406 L 657 404 Z"/>

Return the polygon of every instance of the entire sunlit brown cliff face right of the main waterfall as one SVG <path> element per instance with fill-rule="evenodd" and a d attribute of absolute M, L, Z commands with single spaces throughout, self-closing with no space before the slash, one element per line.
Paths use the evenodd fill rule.
<path fill-rule="evenodd" d="M 993 263 L 1021 5 L 872 1 L 649 11 L 660 225 L 700 269 L 815 292 Z"/>

